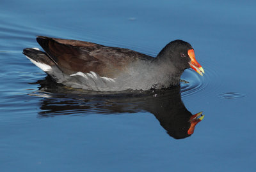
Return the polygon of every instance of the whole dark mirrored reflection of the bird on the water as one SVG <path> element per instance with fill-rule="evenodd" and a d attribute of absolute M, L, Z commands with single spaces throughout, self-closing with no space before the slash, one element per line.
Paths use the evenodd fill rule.
<path fill-rule="evenodd" d="M 47 76 L 38 80 L 39 91 L 31 96 L 44 96 L 38 117 L 90 113 L 152 113 L 166 132 L 175 139 L 186 138 L 194 133 L 196 124 L 204 118 L 202 112 L 192 115 L 182 103 L 180 87 L 168 90 L 125 92 L 92 92 L 65 87 L 52 82 Z"/>

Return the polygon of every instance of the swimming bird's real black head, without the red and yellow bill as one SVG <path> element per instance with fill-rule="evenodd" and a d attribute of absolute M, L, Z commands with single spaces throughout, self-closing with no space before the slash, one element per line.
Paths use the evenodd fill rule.
<path fill-rule="evenodd" d="M 161 52 L 157 55 L 159 61 L 171 62 L 175 68 L 183 72 L 185 69 L 190 68 L 188 50 L 193 50 L 193 47 L 182 40 L 175 40 L 166 45 Z"/>

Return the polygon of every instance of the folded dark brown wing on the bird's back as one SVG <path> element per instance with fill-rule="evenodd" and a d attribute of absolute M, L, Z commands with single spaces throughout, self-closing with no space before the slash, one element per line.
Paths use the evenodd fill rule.
<path fill-rule="evenodd" d="M 133 50 L 106 47 L 86 41 L 45 36 L 38 36 L 36 41 L 52 61 L 68 75 L 78 71 L 83 73 L 94 71 L 100 76 L 113 77 L 116 73 L 124 71 L 131 62 L 154 59 Z"/>

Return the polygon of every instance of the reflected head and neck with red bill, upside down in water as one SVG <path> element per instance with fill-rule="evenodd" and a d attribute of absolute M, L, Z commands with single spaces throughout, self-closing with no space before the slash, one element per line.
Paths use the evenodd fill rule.
<path fill-rule="evenodd" d="M 175 139 L 193 134 L 196 124 L 204 118 L 202 113 L 192 115 L 182 103 L 179 87 L 162 91 L 151 101 L 148 111 L 153 113 L 166 132 Z M 200 119 L 198 118 L 200 117 Z"/>

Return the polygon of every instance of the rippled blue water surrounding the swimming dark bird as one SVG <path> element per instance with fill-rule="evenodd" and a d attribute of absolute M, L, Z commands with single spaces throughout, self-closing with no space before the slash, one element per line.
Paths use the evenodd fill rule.
<path fill-rule="evenodd" d="M 0 171 L 255 171 L 255 6 L 1 1 Z M 174 39 L 188 41 L 205 75 L 186 70 L 181 98 L 188 111 L 204 111 L 205 118 L 192 136 L 176 140 L 149 110 L 148 99 L 51 85 L 22 54 L 38 47 L 36 35 L 148 55 Z"/>

